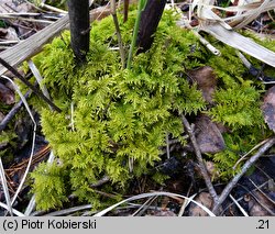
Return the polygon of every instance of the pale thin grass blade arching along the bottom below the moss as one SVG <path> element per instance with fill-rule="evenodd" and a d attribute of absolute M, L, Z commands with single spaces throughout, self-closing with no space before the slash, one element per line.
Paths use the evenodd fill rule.
<path fill-rule="evenodd" d="M 144 199 L 144 198 L 150 198 L 150 197 L 155 197 L 155 196 L 167 196 L 170 198 L 183 198 L 186 199 L 189 202 L 194 202 L 195 204 L 197 204 L 198 207 L 200 207 L 204 211 L 206 211 L 208 213 L 209 216 L 216 216 L 208 208 L 206 208 L 205 205 L 200 204 L 199 202 L 182 196 L 182 194 L 177 194 L 177 193 L 173 193 L 173 192 L 150 192 L 150 193 L 143 193 L 143 194 L 138 194 L 138 196 L 133 196 L 132 198 L 125 199 L 123 201 L 120 201 L 107 209 L 105 209 L 103 211 L 100 211 L 99 213 L 95 214 L 94 216 L 103 216 L 105 214 L 107 214 L 109 211 L 113 210 L 114 208 L 125 203 L 125 202 L 130 202 L 130 201 L 134 201 L 134 200 L 140 200 L 140 199 Z"/>

